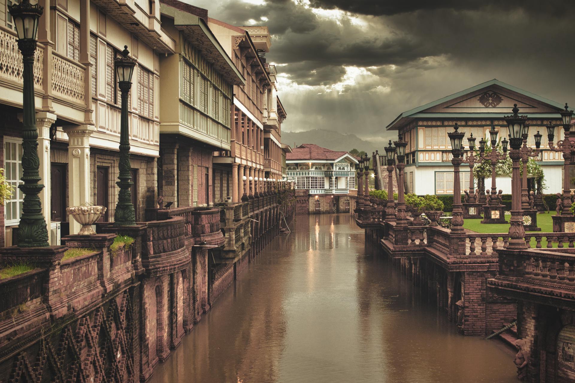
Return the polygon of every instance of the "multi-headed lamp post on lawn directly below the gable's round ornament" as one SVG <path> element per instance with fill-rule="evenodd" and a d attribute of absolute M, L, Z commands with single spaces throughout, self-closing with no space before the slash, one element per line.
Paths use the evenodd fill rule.
<path fill-rule="evenodd" d="M 509 142 L 507 141 L 507 138 L 504 138 L 503 141 L 501 141 L 503 154 L 497 153 L 497 134 L 499 134 L 499 131 L 495 130 L 495 127 L 492 126 L 491 130 L 489 130 L 489 136 L 491 139 L 491 152 L 489 154 L 485 154 L 486 141 L 484 138 L 481 138 L 479 141 L 481 161 L 491 161 L 491 194 L 486 191 L 486 203 L 483 206 L 483 220 L 481 220 L 481 223 L 507 223 L 505 220 L 505 206 L 501 204 L 499 195 L 497 194 L 496 170 L 497 161 L 504 160 L 507 157 L 507 145 Z"/>

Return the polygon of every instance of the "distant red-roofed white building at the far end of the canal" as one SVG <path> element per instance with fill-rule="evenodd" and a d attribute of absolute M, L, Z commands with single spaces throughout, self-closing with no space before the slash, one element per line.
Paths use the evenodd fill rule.
<path fill-rule="evenodd" d="M 355 165 L 347 152 L 303 144 L 286 154 L 287 180 L 296 184 L 298 212 L 347 212 L 355 189 Z M 305 192 L 304 192 L 305 191 Z"/>

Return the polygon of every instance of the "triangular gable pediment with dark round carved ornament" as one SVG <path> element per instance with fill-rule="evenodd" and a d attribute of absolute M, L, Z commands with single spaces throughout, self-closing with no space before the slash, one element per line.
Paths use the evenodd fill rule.
<path fill-rule="evenodd" d="M 524 113 L 557 112 L 557 107 L 492 84 L 439 105 L 421 110 L 422 113 L 511 113 L 513 104 Z"/>

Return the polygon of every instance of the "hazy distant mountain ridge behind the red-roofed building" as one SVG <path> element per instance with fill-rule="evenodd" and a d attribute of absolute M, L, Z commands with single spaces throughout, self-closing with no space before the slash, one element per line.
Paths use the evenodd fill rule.
<path fill-rule="evenodd" d="M 362 140 L 358 136 L 355 136 L 355 134 L 341 134 L 324 129 L 294 132 L 282 131 L 282 144 L 287 144 L 294 148 L 294 142 L 296 146 L 301 144 L 316 144 L 331 150 L 349 151 L 355 148 L 359 151 L 365 150 L 367 153 L 375 152 L 376 149 L 381 152 L 385 146 L 385 141 L 378 140 L 370 142 Z"/>

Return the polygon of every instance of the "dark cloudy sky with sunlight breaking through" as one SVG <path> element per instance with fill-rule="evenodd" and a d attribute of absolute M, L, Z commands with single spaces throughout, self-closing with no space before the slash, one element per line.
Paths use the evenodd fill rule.
<path fill-rule="evenodd" d="M 493 78 L 574 99 L 569 2 L 185 1 L 230 24 L 269 26 L 285 130 L 381 140 L 402 111 Z"/>

